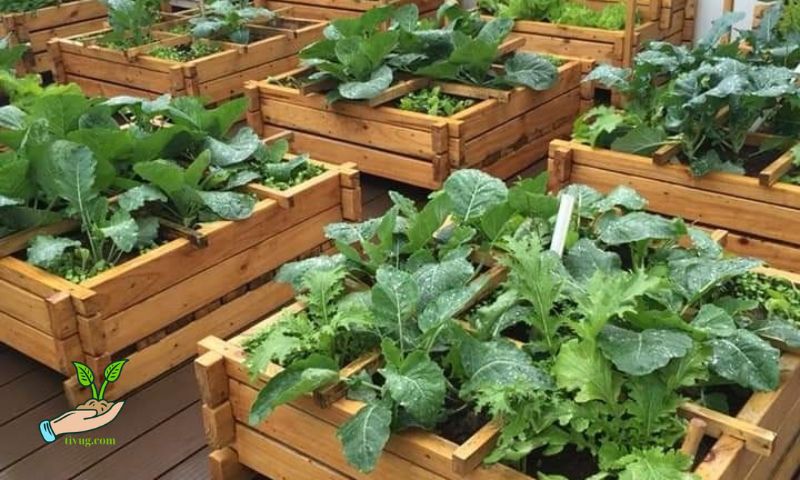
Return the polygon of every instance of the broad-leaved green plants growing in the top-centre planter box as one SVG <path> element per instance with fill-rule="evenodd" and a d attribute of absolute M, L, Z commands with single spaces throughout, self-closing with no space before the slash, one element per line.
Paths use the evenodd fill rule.
<path fill-rule="evenodd" d="M 546 90 L 555 82 L 557 69 L 538 55 L 516 53 L 504 60 L 502 72 L 492 68 L 510 20 L 483 22 L 452 2 L 443 5 L 440 18 L 448 18 L 447 26 L 431 29 L 419 21 L 416 5 L 376 8 L 333 21 L 325 39 L 303 49 L 300 58 L 316 70 L 311 80 L 335 82 L 331 101 L 374 98 L 392 85 L 396 72 L 495 88 Z"/>

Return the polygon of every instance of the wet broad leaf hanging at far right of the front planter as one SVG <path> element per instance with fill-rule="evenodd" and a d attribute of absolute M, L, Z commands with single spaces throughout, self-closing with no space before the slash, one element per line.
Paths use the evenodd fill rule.
<path fill-rule="evenodd" d="M 745 388 L 767 391 L 778 388 L 780 350 L 747 330 L 714 338 L 711 368 L 719 376 Z"/>

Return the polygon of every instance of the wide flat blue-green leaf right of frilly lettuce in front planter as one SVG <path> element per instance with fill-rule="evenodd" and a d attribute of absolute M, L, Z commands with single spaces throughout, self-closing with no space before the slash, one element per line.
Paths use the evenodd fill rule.
<path fill-rule="evenodd" d="M 600 350 L 622 372 L 642 376 L 666 366 L 692 348 L 692 338 L 670 330 L 635 332 L 606 325 L 599 337 Z"/>

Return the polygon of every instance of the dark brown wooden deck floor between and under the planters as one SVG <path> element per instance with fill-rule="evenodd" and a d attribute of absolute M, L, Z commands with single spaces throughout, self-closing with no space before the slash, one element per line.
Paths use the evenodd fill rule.
<path fill-rule="evenodd" d="M 364 215 L 381 215 L 387 192 L 421 199 L 426 192 L 363 179 Z M 110 425 L 87 434 L 114 445 L 46 445 L 39 422 L 69 409 L 63 378 L 0 344 L 0 480 L 195 480 L 209 478 L 208 450 L 191 362 L 133 392 Z M 77 437 L 77 436 L 76 436 Z"/>

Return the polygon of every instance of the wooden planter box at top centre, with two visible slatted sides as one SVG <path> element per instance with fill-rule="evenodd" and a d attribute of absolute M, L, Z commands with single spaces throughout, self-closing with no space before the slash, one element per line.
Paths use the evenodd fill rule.
<path fill-rule="evenodd" d="M 575 118 L 591 106 L 591 85 L 581 78 L 589 62 L 569 60 L 550 90 L 495 90 L 424 78 L 401 81 L 369 102 L 328 104 L 320 93 L 250 82 L 247 119 L 258 133 L 295 132 L 298 148 L 327 162 L 354 161 L 361 171 L 426 188 L 438 188 L 451 169 L 480 168 L 497 177 L 537 163 L 547 144 L 569 135 Z M 303 73 L 292 70 L 274 80 Z M 408 92 L 438 85 L 476 100 L 453 116 L 407 112 L 394 102 Z M 314 86 L 309 89 L 313 90 Z"/>

